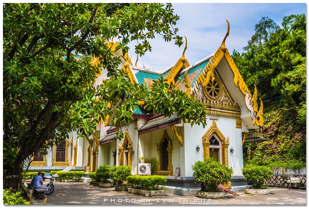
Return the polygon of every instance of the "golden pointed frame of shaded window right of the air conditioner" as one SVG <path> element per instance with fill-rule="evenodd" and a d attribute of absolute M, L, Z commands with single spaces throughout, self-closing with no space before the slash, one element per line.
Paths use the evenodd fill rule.
<path fill-rule="evenodd" d="M 168 165 L 167 170 L 162 170 L 162 144 L 164 142 L 164 139 L 167 139 L 168 145 L 167 145 L 167 152 L 168 152 Z M 173 143 L 167 135 L 167 131 L 164 130 L 163 137 L 160 141 L 160 144 L 157 143 L 157 151 L 159 153 L 159 166 L 157 175 L 161 176 L 172 176 L 173 175 L 173 165 L 172 165 L 172 150 L 173 150 Z"/>

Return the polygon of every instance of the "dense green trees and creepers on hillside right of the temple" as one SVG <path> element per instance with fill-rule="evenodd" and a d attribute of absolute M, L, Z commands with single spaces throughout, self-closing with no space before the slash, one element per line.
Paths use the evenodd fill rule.
<path fill-rule="evenodd" d="M 254 134 L 267 141 L 245 144 L 244 164 L 306 167 L 306 16 L 283 17 L 281 28 L 263 17 L 255 31 L 232 57 L 250 91 L 256 84 L 264 126 Z"/>

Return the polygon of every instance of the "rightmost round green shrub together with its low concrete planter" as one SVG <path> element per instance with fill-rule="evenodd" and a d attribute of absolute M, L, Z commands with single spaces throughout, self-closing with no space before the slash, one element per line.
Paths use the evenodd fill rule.
<path fill-rule="evenodd" d="M 269 195 L 270 189 L 264 186 L 266 180 L 273 176 L 273 172 L 267 166 L 248 164 L 243 169 L 244 180 L 249 182 L 249 188 L 245 189 L 246 194 Z"/>

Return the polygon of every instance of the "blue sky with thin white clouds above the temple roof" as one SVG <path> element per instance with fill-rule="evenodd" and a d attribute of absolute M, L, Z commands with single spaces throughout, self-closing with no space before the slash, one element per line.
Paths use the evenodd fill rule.
<path fill-rule="evenodd" d="M 215 52 L 221 46 L 227 31 L 226 19 L 230 22 L 230 35 L 226 47 L 242 52 L 254 34 L 254 26 L 262 17 L 273 19 L 280 27 L 282 18 L 291 14 L 306 14 L 306 3 L 172 3 L 174 13 L 180 16 L 177 22 L 178 35 L 187 37 L 185 57 L 190 65 Z M 129 55 L 136 61 L 134 45 L 130 43 Z M 165 42 L 156 35 L 150 40 L 152 51 L 138 58 L 138 67 L 164 71 L 181 57 L 184 44 L 179 48 L 173 42 Z"/>

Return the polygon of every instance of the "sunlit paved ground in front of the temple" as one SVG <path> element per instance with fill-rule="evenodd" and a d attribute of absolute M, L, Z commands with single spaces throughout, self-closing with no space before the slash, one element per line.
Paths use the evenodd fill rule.
<path fill-rule="evenodd" d="M 165 194 L 164 197 L 146 198 L 128 192 L 116 192 L 114 188 L 100 188 L 89 183 L 54 182 L 55 191 L 47 198 L 47 205 L 305 205 L 306 190 L 271 187 L 270 195 L 240 196 L 226 194 L 225 199 L 198 199 L 194 196 Z M 42 204 L 39 200 L 38 204 Z M 76 205 L 78 206 L 78 205 Z"/>

